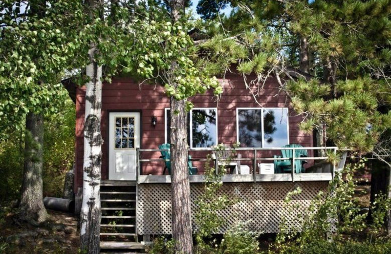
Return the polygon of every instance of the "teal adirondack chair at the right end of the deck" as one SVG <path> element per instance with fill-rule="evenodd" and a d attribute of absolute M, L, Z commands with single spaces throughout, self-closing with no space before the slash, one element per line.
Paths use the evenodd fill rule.
<path fill-rule="evenodd" d="M 290 144 L 283 146 L 284 148 L 302 148 L 301 145 L 298 144 Z M 293 150 L 281 150 L 282 157 L 274 155 L 274 158 L 292 158 Z M 295 158 L 307 157 L 306 149 L 296 149 L 295 150 Z M 303 164 L 307 163 L 303 160 L 295 160 L 295 173 L 304 173 Z M 292 169 L 291 160 L 274 160 L 274 171 L 275 173 L 285 173 L 290 172 Z"/>

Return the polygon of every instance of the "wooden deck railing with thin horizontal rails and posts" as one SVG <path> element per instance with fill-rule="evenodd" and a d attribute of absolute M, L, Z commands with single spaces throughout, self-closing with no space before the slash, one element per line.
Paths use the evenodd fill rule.
<path fill-rule="evenodd" d="M 284 181 L 285 180 L 289 180 L 289 181 L 295 181 L 296 177 L 298 177 L 297 175 L 299 175 L 298 173 L 295 173 L 295 161 L 297 160 L 329 160 L 330 158 L 328 156 L 312 156 L 312 157 L 296 157 L 295 154 L 296 154 L 296 150 L 328 150 L 328 151 L 332 151 L 336 157 L 337 155 L 337 150 L 338 148 L 337 147 L 298 147 L 298 148 L 193 148 L 193 149 L 188 149 L 188 153 L 189 152 L 197 152 L 197 151 L 211 151 L 211 152 L 214 152 L 214 151 L 221 151 L 221 150 L 231 150 L 231 151 L 235 151 L 235 152 L 240 152 L 240 151 L 249 151 L 250 153 L 252 152 L 252 156 L 247 156 L 246 158 L 241 158 L 240 156 L 238 156 L 238 158 L 233 158 L 233 159 L 221 159 L 221 158 L 218 158 L 218 156 L 216 156 L 216 158 L 214 159 L 215 160 L 215 165 L 218 165 L 219 162 L 223 162 L 223 161 L 238 161 L 239 163 L 241 161 L 252 161 L 252 164 L 253 164 L 253 172 L 252 172 L 252 179 L 254 182 L 257 182 L 257 179 L 259 181 L 267 181 L 267 179 L 282 179 L 282 180 L 279 180 L 279 181 Z M 262 152 L 262 151 L 274 151 L 274 150 L 278 150 L 278 151 L 281 151 L 281 150 L 292 150 L 292 157 L 291 158 L 287 158 L 287 157 L 282 157 L 282 158 L 276 158 L 276 157 L 259 157 L 258 156 L 258 152 Z M 141 169 L 142 169 L 142 166 L 141 164 L 144 163 L 144 162 L 156 162 L 156 161 L 161 161 L 163 162 L 162 163 L 162 166 L 164 168 L 164 162 L 165 160 L 162 159 L 162 158 L 142 158 L 141 154 L 143 152 L 160 152 L 162 151 L 161 149 L 141 149 L 141 148 L 136 148 L 136 151 L 137 151 L 137 179 L 139 179 L 141 175 Z M 163 150 L 163 151 L 168 151 L 168 150 Z M 322 154 L 322 153 L 321 153 Z M 324 153 L 326 154 L 326 152 Z M 344 154 L 345 158 L 342 158 L 342 161 L 343 161 L 343 164 L 345 164 L 345 159 L 346 159 L 346 153 Z M 195 161 L 208 161 L 210 159 L 207 159 L 207 158 L 192 158 L 191 161 L 192 162 L 195 162 Z M 257 169 L 257 162 L 258 161 L 275 161 L 275 160 L 290 160 L 290 163 L 291 163 L 291 172 L 290 172 L 290 177 L 286 177 L 288 174 L 276 174 L 276 175 L 284 175 L 285 177 L 257 177 L 257 176 L 260 176 L 260 174 L 257 174 L 256 173 L 256 169 Z M 341 161 L 340 161 L 341 162 Z M 341 165 L 341 163 L 339 163 L 338 165 L 338 169 L 343 167 L 344 165 Z M 240 165 L 240 164 L 239 164 Z M 332 163 L 331 164 L 331 178 L 334 177 L 335 175 L 335 171 L 337 169 L 337 165 L 336 163 Z M 217 167 L 216 167 L 216 170 L 217 170 Z M 300 173 L 300 175 L 302 174 L 308 174 L 308 173 Z M 319 173 L 313 173 L 313 174 L 319 174 Z M 162 177 L 162 175 L 149 175 L 148 177 L 154 177 L 154 176 L 159 176 L 159 177 Z M 198 175 L 197 175 L 198 176 Z M 169 177 L 169 176 L 168 176 Z M 300 178 L 303 178 L 303 177 L 300 177 Z M 167 177 L 165 177 L 165 179 L 167 179 Z M 238 179 L 238 177 L 236 178 Z M 247 178 L 248 179 L 248 178 Z M 262 180 L 262 179 L 266 179 L 266 180 Z M 309 177 L 306 177 L 304 179 L 310 179 Z M 316 180 L 317 178 L 315 177 L 313 179 Z M 198 181 L 201 181 L 202 180 L 197 180 Z M 239 180 L 240 181 L 240 180 Z M 273 180 L 270 180 L 270 181 L 273 181 Z M 304 180 L 303 180 L 304 181 Z M 148 181 L 147 181 L 148 182 Z M 154 181 L 152 181 L 154 182 Z M 159 181 L 156 181 L 156 182 L 159 182 Z M 167 181 L 166 181 L 167 182 Z M 246 182 L 248 182 L 248 180 L 246 180 Z"/>

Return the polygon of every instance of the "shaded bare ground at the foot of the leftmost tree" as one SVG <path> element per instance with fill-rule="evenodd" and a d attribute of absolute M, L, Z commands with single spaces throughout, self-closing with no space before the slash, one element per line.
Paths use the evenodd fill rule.
<path fill-rule="evenodd" d="M 40 227 L 18 223 L 13 212 L 0 216 L 0 254 L 77 254 L 80 235 L 72 213 L 48 210 L 50 219 Z M 2 252 L 1 246 L 6 243 Z"/>

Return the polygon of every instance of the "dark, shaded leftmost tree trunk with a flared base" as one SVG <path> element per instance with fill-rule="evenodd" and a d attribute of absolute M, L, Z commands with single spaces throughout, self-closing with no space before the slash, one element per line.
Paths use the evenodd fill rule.
<path fill-rule="evenodd" d="M 28 113 L 24 145 L 22 196 L 19 218 L 33 225 L 46 220 L 42 188 L 43 114 Z"/>

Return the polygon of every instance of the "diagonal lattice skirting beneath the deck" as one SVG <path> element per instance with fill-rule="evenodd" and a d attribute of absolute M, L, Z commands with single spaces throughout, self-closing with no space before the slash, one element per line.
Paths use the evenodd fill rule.
<path fill-rule="evenodd" d="M 327 181 L 322 182 L 274 182 L 274 183 L 224 183 L 219 194 L 239 198 L 229 209 L 220 211 L 226 224 L 216 233 L 224 233 L 238 221 L 250 221 L 250 230 L 277 233 L 282 215 L 289 226 L 299 227 L 297 216 L 305 212 L 311 200 L 326 191 Z M 302 189 L 293 197 L 290 209 L 283 206 L 290 191 Z M 203 184 L 191 184 L 192 211 L 195 200 L 202 193 Z M 171 234 L 170 184 L 140 184 L 138 186 L 137 230 L 139 234 Z M 290 212 L 289 212 L 290 211 Z M 193 223 L 194 228 L 194 223 Z"/>

